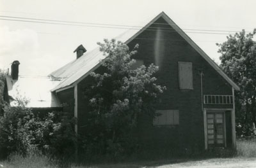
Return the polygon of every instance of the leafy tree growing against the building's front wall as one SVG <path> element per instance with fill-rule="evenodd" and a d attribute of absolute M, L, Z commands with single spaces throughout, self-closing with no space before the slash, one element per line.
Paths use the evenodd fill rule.
<path fill-rule="evenodd" d="M 156 116 L 154 106 L 165 87 L 156 83 L 157 66 L 132 68 L 135 60 L 131 56 L 138 45 L 131 52 L 115 39 L 104 39 L 98 45 L 106 58 L 101 61 L 104 73 L 92 73 L 92 83 L 84 89 L 90 108 L 86 141 L 100 144 L 98 153 L 127 153 L 130 133 L 138 127 L 140 116 Z"/>

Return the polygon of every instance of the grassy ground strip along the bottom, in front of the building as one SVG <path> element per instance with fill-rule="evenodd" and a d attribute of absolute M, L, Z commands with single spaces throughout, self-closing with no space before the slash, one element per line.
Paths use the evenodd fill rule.
<path fill-rule="evenodd" d="M 227 153 L 227 154 L 226 154 Z M 229 158 L 225 158 L 229 157 Z M 237 153 L 230 157 L 230 153 L 227 151 L 220 151 L 215 158 L 207 157 L 193 157 L 193 158 L 162 158 L 156 160 L 140 160 L 121 162 L 116 164 L 93 164 L 93 165 L 69 165 L 71 168 L 104 168 L 104 167 L 232 167 L 232 165 L 243 165 L 242 167 L 250 167 L 256 165 L 256 141 L 255 140 L 237 140 Z M 33 154 L 28 157 L 21 157 L 20 155 L 12 155 L 9 160 L 0 162 L 3 167 L 20 167 L 20 168 L 32 168 L 32 167 L 45 167 L 45 168 L 57 168 L 59 167 L 56 162 L 52 162 L 44 155 Z M 67 167 L 67 166 L 66 166 Z M 237 166 L 238 167 L 238 166 Z"/>

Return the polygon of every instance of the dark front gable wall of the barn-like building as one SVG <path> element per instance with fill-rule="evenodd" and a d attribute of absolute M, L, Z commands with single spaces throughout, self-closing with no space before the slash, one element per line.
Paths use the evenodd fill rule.
<path fill-rule="evenodd" d="M 138 43 L 138 53 L 134 59 L 143 59 L 146 66 L 156 64 L 159 72 L 156 77 L 167 90 L 161 95 L 158 109 L 179 109 L 179 125 L 176 127 L 154 127 L 152 118 L 142 117 L 139 129 L 141 144 L 145 148 L 170 150 L 204 149 L 204 115 L 201 101 L 201 79 L 203 76 L 203 94 L 232 95 L 232 87 L 213 69 L 209 63 L 190 46 L 170 25 L 159 18 L 151 27 L 142 32 L 128 45 Z M 167 29 L 166 29 L 167 28 Z M 153 30 L 153 31 L 152 31 Z M 178 62 L 193 63 L 193 90 L 179 89 Z M 90 82 L 85 78 L 78 85 L 78 129 L 83 130 L 83 118 L 86 118 L 86 101 L 83 87 Z M 211 105 L 204 108 L 232 108 L 232 106 Z"/>

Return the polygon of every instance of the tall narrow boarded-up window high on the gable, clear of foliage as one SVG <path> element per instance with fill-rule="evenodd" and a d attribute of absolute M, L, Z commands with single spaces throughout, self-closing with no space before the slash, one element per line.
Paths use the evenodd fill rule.
<path fill-rule="evenodd" d="M 192 62 L 179 62 L 180 89 L 193 89 Z"/>

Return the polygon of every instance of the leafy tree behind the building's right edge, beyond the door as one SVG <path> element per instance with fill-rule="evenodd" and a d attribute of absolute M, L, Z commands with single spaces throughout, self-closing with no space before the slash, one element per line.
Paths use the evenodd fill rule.
<path fill-rule="evenodd" d="M 253 41 L 256 29 L 246 34 L 243 30 L 234 36 L 227 36 L 227 41 L 217 45 L 221 53 L 221 68 L 240 87 L 236 93 L 239 134 L 250 136 L 252 125 L 256 123 L 256 42 Z M 248 125 L 249 124 L 249 125 Z"/>

